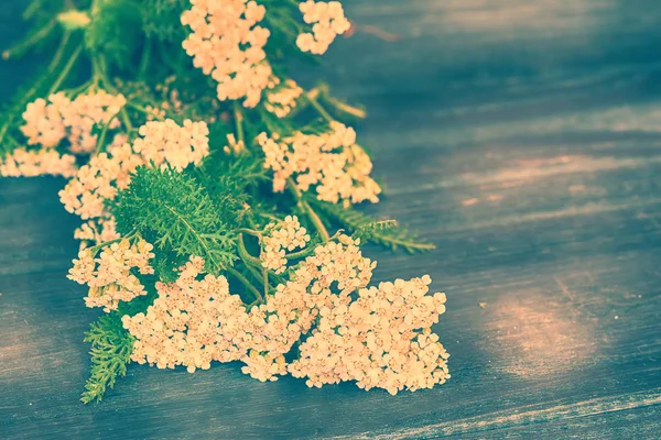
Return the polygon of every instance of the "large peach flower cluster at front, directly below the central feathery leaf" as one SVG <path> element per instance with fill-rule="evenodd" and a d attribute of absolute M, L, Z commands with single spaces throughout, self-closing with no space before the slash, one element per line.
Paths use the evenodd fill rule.
<path fill-rule="evenodd" d="M 224 276 L 201 277 L 204 260 L 193 256 L 172 284 L 158 283 L 159 297 L 147 314 L 122 318 L 137 339 L 131 359 L 159 369 L 184 365 L 207 370 L 212 361 L 230 362 L 246 353 L 246 308 L 229 294 Z M 202 278 L 202 279 L 197 279 Z"/>

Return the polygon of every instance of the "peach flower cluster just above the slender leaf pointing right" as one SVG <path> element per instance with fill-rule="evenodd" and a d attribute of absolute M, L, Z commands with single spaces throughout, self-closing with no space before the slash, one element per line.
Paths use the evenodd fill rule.
<path fill-rule="evenodd" d="M 372 164 L 356 145 L 356 132 L 339 122 L 330 123 L 323 134 L 295 133 L 280 139 L 261 133 L 257 138 L 266 161 L 273 172 L 273 190 L 283 191 L 289 178 L 296 188 L 316 187 L 317 199 L 345 205 L 379 201 L 380 186 L 369 176 Z"/>

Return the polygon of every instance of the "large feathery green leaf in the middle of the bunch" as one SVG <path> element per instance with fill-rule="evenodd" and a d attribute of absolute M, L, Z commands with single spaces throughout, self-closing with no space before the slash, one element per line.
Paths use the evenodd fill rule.
<path fill-rule="evenodd" d="M 131 185 L 111 206 L 121 234 L 139 232 L 158 246 L 160 258 L 202 256 L 206 268 L 218 274 L 236 260 L 236 233 L 228 221 L 232 204 L 219 205 L 186 173 L 141 167 Z M 181 260 L 165 264 L 167 272 Z M 163 264 L 163 263 L 161 263 Z"/>

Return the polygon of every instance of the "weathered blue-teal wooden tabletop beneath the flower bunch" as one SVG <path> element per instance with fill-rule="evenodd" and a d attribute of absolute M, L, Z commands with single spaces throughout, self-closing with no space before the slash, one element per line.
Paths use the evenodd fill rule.
<path fill-rule="evenodd" d="M 20 3 L 2 2 L 0 42 Z M 370 110 L 389 196 L 369 210 L 438 245 L 370 255 L 379 279 L 430 273 L 447 293 L 452 380 L 391 397 L 133 365 L 83 406 L 97 312 L 65 278 L 63 180 L 4 179 L 0 438 L 661 437 L 661 4 L 346 3 L 359 33 L 321 74 Z M 1 96 L 28 69 L 0 65 Z"/>

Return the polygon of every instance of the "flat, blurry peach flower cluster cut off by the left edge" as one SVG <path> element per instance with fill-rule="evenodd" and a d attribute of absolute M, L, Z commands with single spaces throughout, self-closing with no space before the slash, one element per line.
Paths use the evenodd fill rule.
<path fill-rule="evenodd" d="M 59 154 L 55 150 L 15 148 L 0 160 L 0 176 L 3 177 L 35 177 L 46 174 L 73 177 L 77 169 L 75 156 Z"/>

